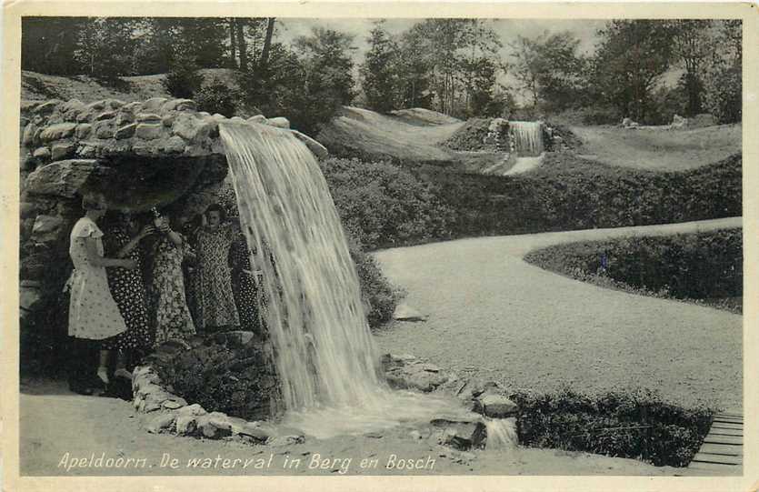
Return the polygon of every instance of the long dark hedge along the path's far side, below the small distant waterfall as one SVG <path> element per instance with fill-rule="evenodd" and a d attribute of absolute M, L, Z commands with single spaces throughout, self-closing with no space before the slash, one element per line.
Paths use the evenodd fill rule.
<path fill-rule="evenodd" d="M 645 226 L 741 216 L 742 156 L 681 172 L 589 163 L 571 153 L 545 156 L 522 176 L 462 174 L 418 166 L 453 217 L 448 237 L 495 236 L 594 227 Z"/>

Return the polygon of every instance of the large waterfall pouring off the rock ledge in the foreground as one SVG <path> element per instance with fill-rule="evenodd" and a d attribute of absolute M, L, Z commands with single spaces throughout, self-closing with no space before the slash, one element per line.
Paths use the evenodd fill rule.
<path fill-rule="evenodd" d="M 306 146 L 273 126 L 219 129 L 243 230 L 258 252 L 253 263 L 264 274 L 285 423 L 331 437 L 461 412 L 452 400 L 384 383 L 345 233 Z"/>

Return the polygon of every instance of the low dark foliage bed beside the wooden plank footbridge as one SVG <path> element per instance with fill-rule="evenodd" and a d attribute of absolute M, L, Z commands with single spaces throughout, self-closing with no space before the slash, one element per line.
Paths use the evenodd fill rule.
<path fill-rule="evenodd" d="M 587 396 L 518 392 L 519 442 L 530 447 L 641 459 L 657 467 L 685 467 L 712 423 L 714 410 L 683 408 L 647 392 Z"/>

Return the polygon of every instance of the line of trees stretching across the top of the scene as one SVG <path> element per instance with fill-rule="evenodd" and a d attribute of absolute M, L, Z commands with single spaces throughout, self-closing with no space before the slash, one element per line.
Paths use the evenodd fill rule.
<path fill-rule="evenodd" d="M 276 25 L 265 17 L 25 17 L 22 68 L 115 82 L 231 67 L 242 74 L 249 106 L 285 115 L 312 135 L 354 99 L 380 112 L 508 117 L 517 92 L 530 118 L 557 111 L 580 111 L 575 123 L 585 124 L 625 116 L 662 124 L 702 111 L 723 123 L 742 117 L 740 20 L 611 20 L 586 53 L 568 31 L 509 40 L 497 21 L 436 18 L 393 35 L 380 21 L 364 56 L 351 53 L 350 35 L 319 27 L 285 45 Z M 362 58 L 356 84 L 353 64 Z"/>

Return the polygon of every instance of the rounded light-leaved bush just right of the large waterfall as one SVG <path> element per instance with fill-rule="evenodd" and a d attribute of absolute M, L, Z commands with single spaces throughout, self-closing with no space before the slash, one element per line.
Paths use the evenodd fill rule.
<path fill-rule="evenodd" d="M 334 157 L 321 166 L 343 226 L 362 246 L 404 246 L 448 236 L 452 210 L 407 169 Z"/>

